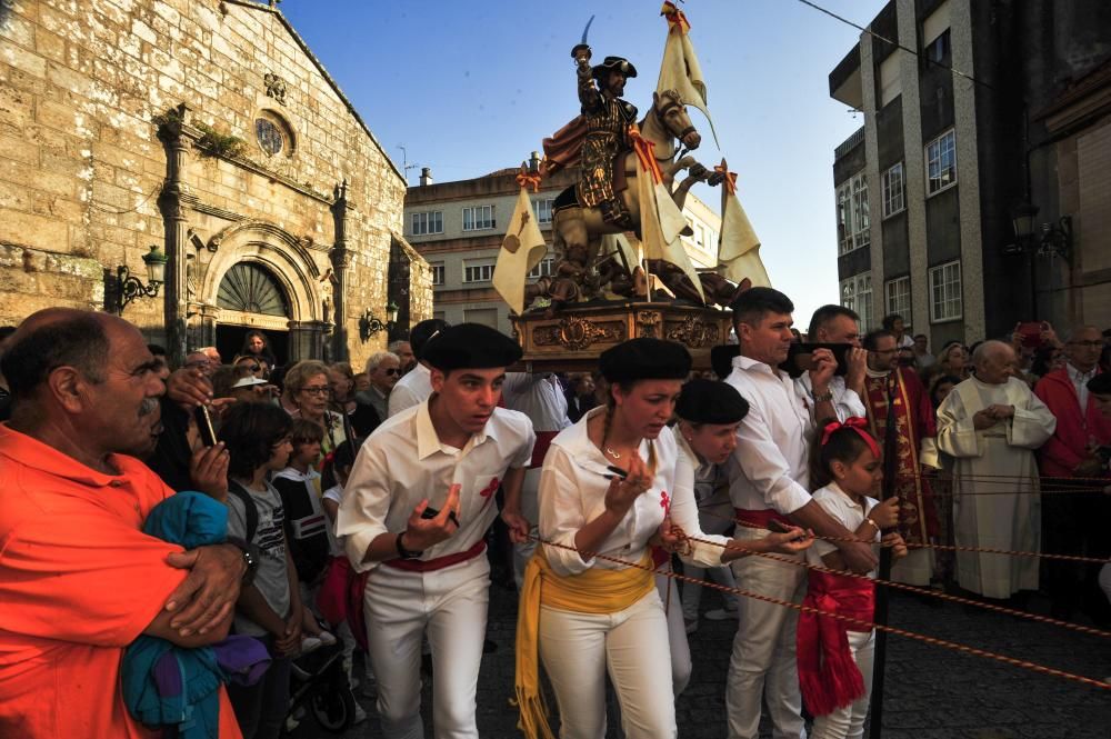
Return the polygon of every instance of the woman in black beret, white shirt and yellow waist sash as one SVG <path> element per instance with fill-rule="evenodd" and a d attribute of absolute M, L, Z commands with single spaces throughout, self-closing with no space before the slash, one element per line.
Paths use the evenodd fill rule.
<path fill-rule="evenodd" d="M 667 427 L 690 366 L 684 347 L 660 339 L 604 351 L 607 405 L 552 441 L 539 492 L 544 543 L 526 571 L 518 622 L 517 690 L 527 737 L 551 736 L 538 649 L 560 707 L 562 739 L 604 737 L 607 671 L 628 739 L 677 736 L 671 642 L 650 547 L 675 551 L 685 543 L 688 556 L 714 565 L 743 553 L 684 542 L 671 525 L 670 517 L 679 517 L 675 527 L 703 538 L 693 493 L 677 485 L 679 448 Z M 673 506 L 674 498 L 683 500 Z"/>

